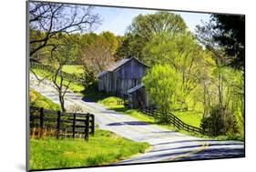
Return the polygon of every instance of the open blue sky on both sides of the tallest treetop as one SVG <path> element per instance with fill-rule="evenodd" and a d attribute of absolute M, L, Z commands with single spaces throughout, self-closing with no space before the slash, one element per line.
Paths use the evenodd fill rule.
<path fill-rule="evenodd" d="M 141 14 L 154 14 L 156 10 L 132 9 L 132 8 L 116 8 L 116 7 L 95 7 L 94 12 L 100 15 L 102 25 L 97 27 L 96 33 L 103 31 L 110 31 L 115 35 L 124 35 L 128 25 L 131 24 L 132 19 Z M 201 24 L 202 21 L 209 21 L 209 14 L 189 13 L 189 12 L 173 12 L 181 15 L 189 30 L 194 32 L 196 25 Z"/>

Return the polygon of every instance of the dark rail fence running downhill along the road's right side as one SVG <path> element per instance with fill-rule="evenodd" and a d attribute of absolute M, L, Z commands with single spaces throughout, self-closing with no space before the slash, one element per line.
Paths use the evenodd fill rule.
<path fill-rule="evenodd" d="M 147 114 L 148 116 L 154 116 L 157 118 L 160 118 L 161 116 L 167 116 L 168 122 L 178 129 L 183 129 L 188 132 L 195 132 L 195 133 L 200 133 L 200 134 L 203 133 L 202 129 L 200 127 L 190 126 L 190 125 L 184 123 L 182 120 L 180 120 L 179 117 L 174 116 L 172 113 L 164 114 L 164 112 L 159 112 L 156 108 L 148 107 L 148 106 L 146 106 L 144 108 L 140 108 L 140 110 L 143 113 Z"/>

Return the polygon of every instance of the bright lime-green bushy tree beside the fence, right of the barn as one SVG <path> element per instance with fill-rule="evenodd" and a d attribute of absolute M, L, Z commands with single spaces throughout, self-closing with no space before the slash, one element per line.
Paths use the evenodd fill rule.
<path fill-rule="evenodd" d="M 153 66 L 142 79 L 148 92 L 149 101 L 162 110 L 161 121 L 168 122 L 167 112 L 172 112 L 179 102 L 181 76 L 170 65 Z"/>

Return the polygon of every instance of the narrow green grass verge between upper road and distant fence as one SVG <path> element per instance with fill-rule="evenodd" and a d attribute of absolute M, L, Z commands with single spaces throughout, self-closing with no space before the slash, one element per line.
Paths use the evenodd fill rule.
<path fill-rule="evenodd" d="M 36 73 L 36 76 L 41 76 L 43 78 L 46 77 L 46 79 L 48 79 L 48 80 L 50 80 L 53 76 L 52 73 L 50 73 L 46 70 L 42 70 L 42 69 L 32 69 L 32 70 Z M 33 75 L 33 74 L 31 74 L 31 75 Z M 57 81 L 57 83 L 60 83 L 60 77 L 59 76 L 57 77 L 56 81 Z M 64 84 L 67 85 L 68 81 L 64 80 Z M 70 83 L 69 89 L 71 89 L 75 93 L 80 93 L 80 92 L 84 91 L 85 87 L 81 86 L 81 85 L 78 85 L 77 83 Z"/>

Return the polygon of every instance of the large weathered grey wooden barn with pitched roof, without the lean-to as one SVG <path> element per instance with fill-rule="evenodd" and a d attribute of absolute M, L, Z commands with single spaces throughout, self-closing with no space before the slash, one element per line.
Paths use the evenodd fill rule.
<path fill-rule="evenodd" d="M 141 84 L 147 65 L 135 57 L 124 58 L 97 75 L 98 90 L 128 96 L 128 90 Z"/>

